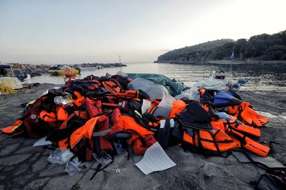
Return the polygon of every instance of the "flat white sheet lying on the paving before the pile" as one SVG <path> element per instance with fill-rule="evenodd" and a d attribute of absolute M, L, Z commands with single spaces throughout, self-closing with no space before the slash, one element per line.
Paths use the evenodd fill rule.
<path fill-rule="evenodd" d="M 154 171 L 169 169 L 176 164 L 169 158 L 159 142 L 156 142 L 146 150 L 142 160 L 135 165 L 147 175 Z"/>

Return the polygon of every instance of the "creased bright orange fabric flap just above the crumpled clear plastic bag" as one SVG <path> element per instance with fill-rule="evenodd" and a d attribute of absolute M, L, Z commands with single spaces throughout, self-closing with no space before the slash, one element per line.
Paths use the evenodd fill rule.
<path fill-rule="evenodd" d="M 73 134 L 70 136 L 70 147 L 73 148 L 79 140 L 82 138 L 90 139 L 93 136 L 93 129 L 95 128 L 95 124 L 97 123 L 97 118 L 90 118 L 86 122 L 86 124 L 79 127 L 79 129 L 75 130 Z"/>

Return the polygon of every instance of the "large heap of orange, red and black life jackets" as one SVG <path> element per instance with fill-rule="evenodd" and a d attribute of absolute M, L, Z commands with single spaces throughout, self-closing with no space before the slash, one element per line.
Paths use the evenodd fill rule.
<path fill-rule="evenodd" d="M 47 136 L 53 146 L 70 149 L 81 161 L 93 160 L 93 155 L 122 154 L 128 147 L 144 154 L 155 142 L 204 155 L 222 155 L 236 148 L 260 156 L 269 153 L 269 147 L 258 142 L 260 127 L 268 118 L 236 92 L 198 89 L 199 101 L 182 98 L 160 107 L 161 100 L 150 101 L 141 89 L 128 89 L 131 81 L 108 74 L 70 80 L 28 103 L 14 125 L 2 131 L 12 136 Z M 142 112 L 144 101 L 151 105 L 146 112 Z"/>

